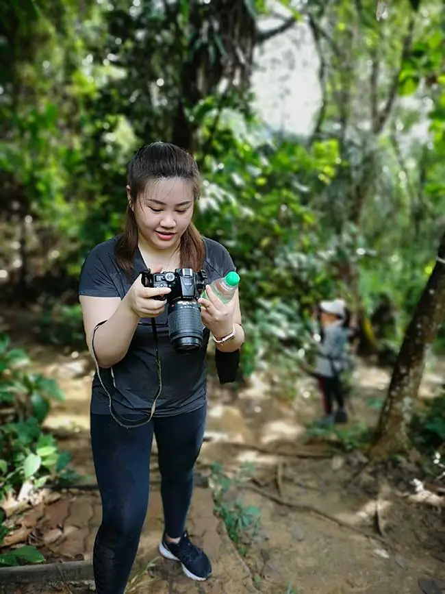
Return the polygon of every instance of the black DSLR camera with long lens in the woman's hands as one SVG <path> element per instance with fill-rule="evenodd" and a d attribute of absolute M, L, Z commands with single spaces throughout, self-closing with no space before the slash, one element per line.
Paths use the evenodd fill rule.
<path fill-rule="evenodd" d="M 178 353 L 188 353 L 203 344 L 203 323 L 199 296 L 205 289 L 207 274 L 191 268 L 177 268 L 175 272 L 142 273 L 142 284 L 153 288 L 168 287 L 168 295 L 154 299 L 168 303 L 168 336 Z"/>

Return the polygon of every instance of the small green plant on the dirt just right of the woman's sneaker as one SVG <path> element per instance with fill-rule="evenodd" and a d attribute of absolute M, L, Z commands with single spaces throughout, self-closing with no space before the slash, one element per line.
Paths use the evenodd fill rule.
<path fill-rule="evenodd" d="M 225 523 L 230 539 L 242 555 L 246 554 L 257 536 L 261 511 L 255 506 L 245 506 L 242 497 L 233 499 L 233 491 L 251 472 L 251 467 L 244 465 L 235 477 L 229 478 L 220 464 L 215 463 L 211 468 L 215 512 Z"/>

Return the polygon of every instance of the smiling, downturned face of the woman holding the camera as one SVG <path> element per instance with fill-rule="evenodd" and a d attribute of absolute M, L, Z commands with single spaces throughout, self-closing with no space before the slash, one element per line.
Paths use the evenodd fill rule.
<path fill-rule="evenodd" d="M 153 249 L 160 250 L 179 245 L 192 221 L 193 206 L 191 182 L 173 177 L 149 182 L 131 209 L 139 234 Z"/>

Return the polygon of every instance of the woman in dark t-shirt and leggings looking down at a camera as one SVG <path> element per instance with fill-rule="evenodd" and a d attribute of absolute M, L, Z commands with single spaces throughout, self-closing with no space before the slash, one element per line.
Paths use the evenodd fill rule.
<path fill-rule="evenodd" d="M 160 553 L 181 562 L 192 580 L 212 574 L 185 524 L 205 427 L 209 334 L 220 351 L 240 349 L 239 297 L 225 305 L 206 287 L 208 298 L 199 299 L 203 344 L 185 355 L 168 336 L 170 289 L 141 282 L 147 269 L 203 269 L 209 283 L 235 270 L 225 247 L 201 237 L 192 223 L 199 188 L 198 166 L 186 151 L 167 143 L 142 147 L 129 163 L 125 232 L 94 247 L 80 275 L 84 328 L 97 364 L 91 443 L 103 508 L 93 553 L 98 594 L 124 593 L 147 514 L 153 433 L 164 508 Z"/>

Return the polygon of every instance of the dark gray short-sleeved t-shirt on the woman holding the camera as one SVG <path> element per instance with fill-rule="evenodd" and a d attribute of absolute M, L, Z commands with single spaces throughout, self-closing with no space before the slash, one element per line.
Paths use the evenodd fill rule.
<path fill-rule="evenodd" d="M 114 256 L 117 239 L 114 237 L 104 241 L 90 251 L 81 269 L 79 295 L 123 299 L 136 277 L 147 269 L 140 250 L 136 249 L 133 258 L 133 280 L 128 278 L 118 267 Z M 207 282 L 211 283 L 236 270 L 229 252 L 223 245 L 208 238 L 204 238 L 204 243 L 203 269 L 207 273 Z M 168 306 L 164 313 L 155 319 L 162 369 L 162 392 L 157 399 L 153 417 L 170 417 L 192 412 L 203 406 L 206 399 L 206 351 L 209 331 L 203 327 L 201 349 L 188 354 L 178 354 L 170 345 L 167 319 Z M 112 369 L 101 368 L 100 375 L 112 396 L 114 410 L 118 414 L 130 417 L 131 414 L 138 414 L 140 409 L 147 411 L 151 408 L 158 389 L 151 318 L 140 319 L 123 360 L 116 363 Z M 91 412 L 110 414 L 109 399 L 97 373 L 94 374 L 92 382 Z"/>

